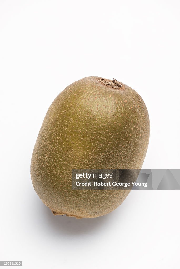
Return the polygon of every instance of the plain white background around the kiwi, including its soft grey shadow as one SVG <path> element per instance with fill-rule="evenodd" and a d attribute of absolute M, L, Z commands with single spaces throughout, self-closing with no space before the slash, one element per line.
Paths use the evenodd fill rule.
<path fill-rule="evenodd" d="M 179 190 L 131 191 L 94 219 L 54 216 L 30 160 L 54 98 L 86 76 L 135 89 L 144 169 L 179 169 L 180 2 L 0 0 L 0 260 L 24 268 L 179 268 Z M 3 267 L 2 267 L 3 268 Z"/>

